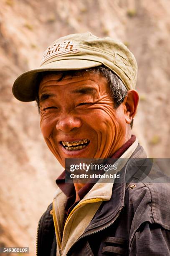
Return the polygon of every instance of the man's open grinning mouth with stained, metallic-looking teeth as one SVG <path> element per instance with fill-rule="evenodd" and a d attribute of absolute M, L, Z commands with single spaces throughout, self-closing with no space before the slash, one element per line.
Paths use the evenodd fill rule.
<path fill-rule="evenodd" d="M 60 144 L 69 151 L 80 150 L 85 148 L 90 143 L 89 139 L 82 139 L 80 141 L 60 141 Z"/>

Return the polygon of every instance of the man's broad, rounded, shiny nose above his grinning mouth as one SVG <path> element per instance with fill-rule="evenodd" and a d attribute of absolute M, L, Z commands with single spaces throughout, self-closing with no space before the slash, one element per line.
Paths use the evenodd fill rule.
<path fill-rule="evenodd" d="M 58 120 L 56 124 L 56 129 L 63 131 L 65 133 L 69 133 L 70 131 L 74 131 L 76 128 L 80 128 L 82 125 L 81 120 L 74 116 L 63 116 Z"/>

